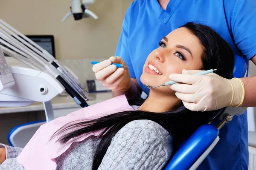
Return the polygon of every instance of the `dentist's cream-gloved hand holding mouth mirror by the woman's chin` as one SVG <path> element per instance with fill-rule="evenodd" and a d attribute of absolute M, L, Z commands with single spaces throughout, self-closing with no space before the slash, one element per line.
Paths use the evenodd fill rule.
<path fill-rule="evenodd" d="M 170 88 L 177 98 L 191 111 L 213 111 L 227 106 L 240 106 L 244 100 L 244 84 L 241 79 L 225 79 L 215 73 L 195 76 L 199 70 L 183 70 L 182 74 L 170 74 L 176 82 Z"/>

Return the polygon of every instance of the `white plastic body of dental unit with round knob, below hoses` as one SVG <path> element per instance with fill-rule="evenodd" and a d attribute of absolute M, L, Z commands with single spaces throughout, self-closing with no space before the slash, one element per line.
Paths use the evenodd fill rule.
<path fill-rule="evenodd" d="M 0 106 L 15 107 L 15 102 L 47 102 L 64 91 L 57 79 L 47 72 L 30 68 L 10 66 L 15 85 L 0 92 Z M 27 102 L 27 103 L 24 103 Z M 4 104 L 7 104 L 4 106 Z M 17 103 L 16 107 L 21 105 Z"/>

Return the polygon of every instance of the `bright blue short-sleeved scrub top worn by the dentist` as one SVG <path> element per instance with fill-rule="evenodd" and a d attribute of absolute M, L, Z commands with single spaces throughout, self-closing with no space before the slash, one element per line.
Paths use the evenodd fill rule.
<path fill-rule="evenodd" d="M 256 54 L 255 0 L 170 0 L 166 11 L 157 0 L 135 0 L 125 14 L 115 56 L 122 57 L 146 94 L 149 90 L 140 76 L 148 54 L 158 48 L 162 37 L 189 21 L 212 27 L 247 63 Z M 247 134 L 247 114 L 234 116 L 198 169 L 247 170 Z"/>

